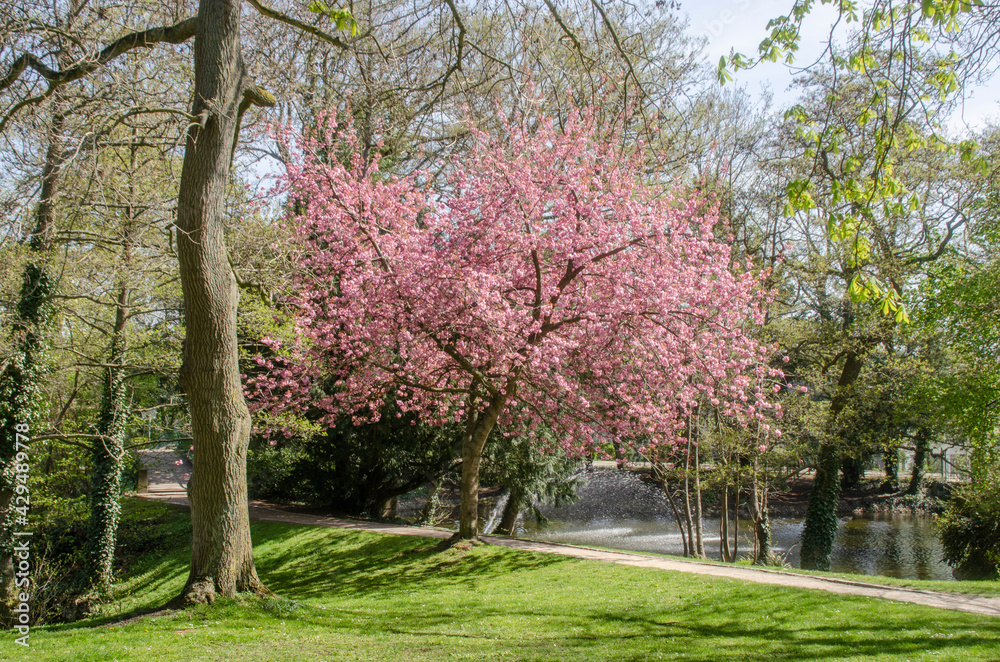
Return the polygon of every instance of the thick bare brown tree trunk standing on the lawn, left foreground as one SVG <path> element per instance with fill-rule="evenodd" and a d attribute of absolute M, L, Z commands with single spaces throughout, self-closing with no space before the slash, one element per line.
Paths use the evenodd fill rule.
<path fill-rule="evenodd" d="M 264 593 L 247 510 L 250 412 L 236 343 L 236 279 L 223 212 L 241 102 L 249 86 L 240 55 L 238 0 L 201 0 L 194 44 L 198 118 L 188 131 L 177 208 L 177 255 L 186 335 L 180 382 L 191 409 L 194 459 L 188 496 L 193 532 L 186 602 Z"/>

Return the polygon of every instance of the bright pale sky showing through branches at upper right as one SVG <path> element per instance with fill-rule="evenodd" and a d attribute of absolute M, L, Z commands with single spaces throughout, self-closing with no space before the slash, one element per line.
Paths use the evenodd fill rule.
<path fill-rule="evenodd" d="M 705 37 L 707 60 L 715 64 L 730 49 L 745 55 L 755 55 L 757 45 L 768 34 L 767 22 L 788 13 L 793 0 L 681 0 L 681 11 L 690 19 L 691 34 Z M 795 64 L 812 63 L 823 52 L 829 39 L 829 29 L 836 19 L 836 12 L 828 5 L 819 6 L 803 24 L 803 39 Z M 792 72 L 780 63 L 764 63 L 749 71 L 739 72 L 735 82 L 746 85 L 750 92 L 769 88 L 779 106 L 794 99 L 788 91 Z M 948 123 L 949 128 L 961 132 L 966 127 L 976 128 L 988 117 L 1000 118 L 1000 84 L 972 90 L 962 116 Z"/>

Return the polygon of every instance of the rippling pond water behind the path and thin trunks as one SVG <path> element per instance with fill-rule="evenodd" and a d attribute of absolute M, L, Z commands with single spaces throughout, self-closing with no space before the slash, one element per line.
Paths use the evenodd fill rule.
<path fill-rule="evenodd" d="M 517 535 L 575 545 L 638 552 L 683 554 L 681 534 L 663 493 L 634 474 L 596 471 L 587 474 L 579 499 L 562 508 L 543 507 L 546 526 L 534 520 L 519 525 Z M 803 520 L 771 522 L 774 550 L 792 567 L 799 566 Z M 704 520 L 705 551 L 720 558 L 719 520 Z M 750 522 L 740 522 L 740 556 L 753 549 Z M 897 513 L 842 519 L 830 558 L 831 570 L 907 579 L 950 580 L 941 560 L 941 542 L 933 518 Z"/>

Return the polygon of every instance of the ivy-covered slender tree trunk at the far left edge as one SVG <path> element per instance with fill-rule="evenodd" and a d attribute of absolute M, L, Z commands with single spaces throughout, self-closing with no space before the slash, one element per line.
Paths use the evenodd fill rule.
<path fill-rule="evenodd" d="M 61 95 L 56 92 L 53 96 L 58 100 Z M 12 324 L 13 351 L 0 374 L 0 627 L 10 625 L 11 603 L 19 592 L 14 585 L 13 531 L 25 528 L 15 520 L 12 508 L 17 464 L 15 442 L 17 432 L 29 435 L 42 415 L 41 381 L 48 349 L 45 331 L 52 318 L 54 289 L 49 260 L 55 235 L 59 177 L 65 163 L 64 130 L 65 116 L 54 113 L 49 125 L 35 227 L 27 239 L 30 254 Z"/>

